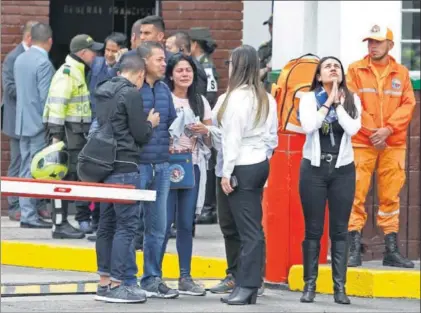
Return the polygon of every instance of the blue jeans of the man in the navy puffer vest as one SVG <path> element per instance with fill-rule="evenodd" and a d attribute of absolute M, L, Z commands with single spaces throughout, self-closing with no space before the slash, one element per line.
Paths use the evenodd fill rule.
<path fill-rule="evenodd" d="M 144 224 L 143 276 L 141 285 L 147 286 L 155 277 L 162 277 L 161 254 L 167 228 L 167 198 L 170 190 L 169 163 L 141 164 L 140 189 L 156 190 L 155 202 L 141 202 L 141 218 Z M 138 231 L 142 228 L 138 223 Z M 132 257 L 127 260 L 127 277 L 137 269 Z M 131 284 L 125 281 L 126 285 Z"/>

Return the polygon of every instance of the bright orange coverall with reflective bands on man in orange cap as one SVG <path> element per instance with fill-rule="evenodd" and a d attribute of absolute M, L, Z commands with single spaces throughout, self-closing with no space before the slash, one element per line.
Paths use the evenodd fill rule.
<path fill-rule="evenodd" d="M 364 204 L 372 174 L 377 169 L 377 225 L 385 235 L 399 232 L 399 193 L 406 179 L 407 129 L 416 102 L 407 68 L 391 56 L 389 59 L 382 74 L 378 74 L 369 56 L 348 68 L 348 88 L 358 94 L 363 107 L 362 127 L 352 138 L 357 181 L 349 231 L 361 231 L 367 221 Z M 382 127 L 392 133 L 386 139 L 386 149 L 378 151 L 369 137 Z"/>

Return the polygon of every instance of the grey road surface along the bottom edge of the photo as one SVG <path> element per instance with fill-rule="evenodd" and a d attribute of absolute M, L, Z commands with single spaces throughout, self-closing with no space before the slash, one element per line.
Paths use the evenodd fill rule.
<path fill-rule="evenodd" d="M 420 312 L 418 300 L 352 298 L 351 305 L 339 305 L 329 295 L 317 295 L 316 302 L 299 302 L 300 293 L 266 290 L 256 305 L 228 306 L 219 295 L 180 296 L 179 299 L 148 299 L 145 304 L 110 304 L 92 295 L 40 296 L 1 299 L 1 312 Z"/>

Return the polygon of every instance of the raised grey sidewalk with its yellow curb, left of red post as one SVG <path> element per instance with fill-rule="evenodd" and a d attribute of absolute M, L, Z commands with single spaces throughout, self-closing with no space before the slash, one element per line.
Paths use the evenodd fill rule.
<path fill-rule="evenodd" d="M 73 218 L 70 222 L 76 225 Z M 52 239 L 49 229 L 22 229 L 19 223 L 6 217 L 1 219 L 1 228 L 1 263 L 4 265 L 96 272 L 94 242 Z M 137 265 L 143 268 L 141 251 L 137 253 Z M 178 278 L 177 248 L 173 239 L 168 243 L 163 268 L 166 278 Z M 225 248 L 219 226 L 198 226 L 193 243 L 192 276 L 221 278 L 225 269 Z"/>

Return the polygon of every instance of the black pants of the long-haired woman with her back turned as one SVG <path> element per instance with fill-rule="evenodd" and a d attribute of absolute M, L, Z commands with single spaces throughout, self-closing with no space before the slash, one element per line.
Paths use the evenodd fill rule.
<path fill-rule="evenodd" d="M 265 263 L 265 237 L 262 226 L 262 193 L 269 174 L 269 162 L 234 168 L 238 187 L 230 195 L 217 178 L 219 225 L 225 241 L 227 274 L 239 287 L 259 288 Z"/>

